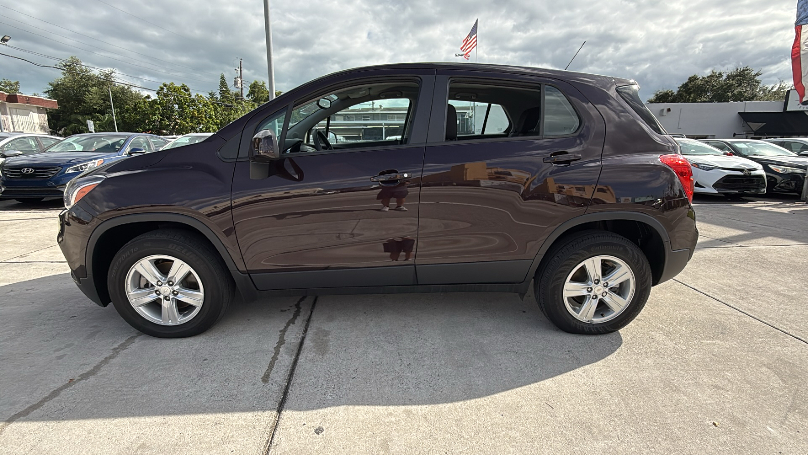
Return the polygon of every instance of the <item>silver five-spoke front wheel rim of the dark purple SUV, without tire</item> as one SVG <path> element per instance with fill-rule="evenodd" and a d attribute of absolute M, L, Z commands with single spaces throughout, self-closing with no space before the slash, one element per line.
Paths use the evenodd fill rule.
<path fill-rule="evenodd" d="M 132 308 L 159 325 L 191 321 L 202 309 L 204 287 L 196 271 L 176 257 L 144 257 L 126 274 L 126 297 Z"/>

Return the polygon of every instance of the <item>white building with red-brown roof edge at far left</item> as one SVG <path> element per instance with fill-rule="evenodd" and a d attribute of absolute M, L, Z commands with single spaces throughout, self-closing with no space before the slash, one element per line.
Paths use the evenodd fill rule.
<path fill-rule="evenodd" d="M 50 134 L 46 109 L 58 107 L 56 100 L 0 91 L 0 132 Z"/>

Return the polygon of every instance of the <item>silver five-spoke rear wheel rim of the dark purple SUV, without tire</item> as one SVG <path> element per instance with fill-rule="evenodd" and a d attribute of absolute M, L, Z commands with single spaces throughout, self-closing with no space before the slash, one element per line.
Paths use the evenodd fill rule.
<path fill-rule="evenodd" d="M 564 282 L 564 306 L 587 324 L 611 321 L 623 313 L 637 287 L 634 272 L 614 256 L 589 257 L 575 266 Z"/>

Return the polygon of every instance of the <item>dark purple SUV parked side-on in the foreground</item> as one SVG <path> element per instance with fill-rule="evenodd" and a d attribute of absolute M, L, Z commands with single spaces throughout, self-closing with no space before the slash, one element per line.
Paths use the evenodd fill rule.
<path fill-rule="evenodd" d="M 626 79 L 406 64 L 322 77 L 210 138 L 86 172 L 58 241 L 78 287 L 157 337 L 246 299 L 531 283 L 580 334 L 684 269 L 692 173 Z"/>

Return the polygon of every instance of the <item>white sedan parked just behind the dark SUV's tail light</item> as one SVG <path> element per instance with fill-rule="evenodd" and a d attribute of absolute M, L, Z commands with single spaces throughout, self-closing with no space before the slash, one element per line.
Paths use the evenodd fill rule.
<path fill-rule="evenodd" d="M 695 139 L 675 138 L 684 158 L 693 168 L 693 191 L 739 198 L 766 192 L 763 165 L 734 156 Z"/>

